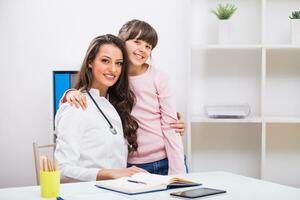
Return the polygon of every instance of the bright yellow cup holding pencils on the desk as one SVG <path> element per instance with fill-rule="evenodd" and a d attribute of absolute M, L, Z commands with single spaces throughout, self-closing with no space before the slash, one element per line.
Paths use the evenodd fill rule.
<path fill-rule="evenodd" d="M 59 196 L 60 173 L 59 171 L 40 171 L 41 197 Z"/>

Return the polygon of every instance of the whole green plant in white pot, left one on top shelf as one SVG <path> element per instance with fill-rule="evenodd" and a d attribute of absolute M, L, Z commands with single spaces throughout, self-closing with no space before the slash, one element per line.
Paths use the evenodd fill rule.
<path fill-rule="evenodd" d="M 231 42 L 230 38 L 230 17 L 235 13 L 237 7 L 233 4 L 222 5 L 219 4 L 216 9 L 211 10 L 213 14 L 219 19 L 219 34 L 218 39 L 220 44 L 228 44 Z"/>

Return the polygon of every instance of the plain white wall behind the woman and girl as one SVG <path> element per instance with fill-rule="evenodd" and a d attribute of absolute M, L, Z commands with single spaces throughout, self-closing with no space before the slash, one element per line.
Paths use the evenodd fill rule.
<path fill-rule="evenodd" d="M 154 63 L 172 77 L 184 114 L 185 6 L 184 0 L 0 0 L 0 188 L 35 184 L 32 142 L 52 139 L 51 71 L 78 69 L 93 37 L 117 34 L 130 19 L 158 31 Z"/>

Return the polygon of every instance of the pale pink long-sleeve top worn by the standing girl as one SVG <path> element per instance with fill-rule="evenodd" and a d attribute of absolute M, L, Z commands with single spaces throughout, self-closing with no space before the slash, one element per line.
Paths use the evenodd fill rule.
<path fill-rule="evenodd" d="M 141 164 L 168 158 L 169 174 L 185 173 L 181 136 L 170 127 L 177 120 L 175 99 L 167 76 L 153 66 L 138 76 L 130 76 L 136 104 L 131 114 L 137 119 L 137 152 L 128 163 Z"/>

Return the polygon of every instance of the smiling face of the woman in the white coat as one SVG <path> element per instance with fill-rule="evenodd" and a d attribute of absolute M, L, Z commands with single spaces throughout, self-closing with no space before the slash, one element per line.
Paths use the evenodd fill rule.
<path fill-rule="evenodd" d="M 120 77 L 123 64 L 122 51 L 111 44 L 100 47 L 95 59 L 89 64 L 93 74 L 93 88 L 100 89 L 101 95 L 113 86 Z"/>

